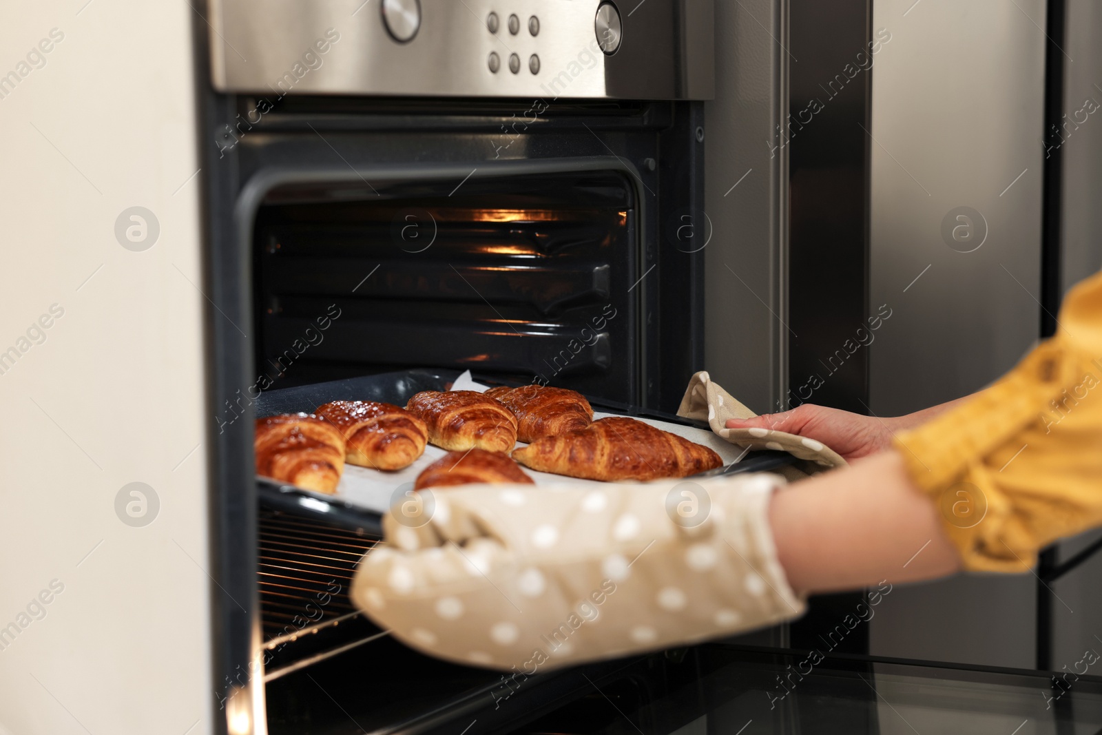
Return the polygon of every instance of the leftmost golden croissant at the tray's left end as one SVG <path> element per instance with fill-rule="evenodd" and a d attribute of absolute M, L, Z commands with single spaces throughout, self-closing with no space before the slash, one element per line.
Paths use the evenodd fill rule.
<path fill-rule="evenodd" d="M 257 474 L 307 490 L 334 493 L 344 472 L 345 439 L 312 413 L 257 419 Z"/>

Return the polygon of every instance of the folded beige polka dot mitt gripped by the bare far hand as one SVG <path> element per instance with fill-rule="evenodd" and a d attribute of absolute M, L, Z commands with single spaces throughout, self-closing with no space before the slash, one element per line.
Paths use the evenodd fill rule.
<path fill-rule="evenodd" d="M 813 439 L 797 436 L 771 429 L 727 429 L 727 419 L 752 419 L 756 413 L 731 397 L 731 393 L 712 382 L 707 372 L 698 372 L 689 381 L 678 415 L 707 421 L 719 436 L 732 444 L 752 450 L 780 450 L 806 460 L 810 472 L 841 467 L 846 464 L 834 450 Z"/>

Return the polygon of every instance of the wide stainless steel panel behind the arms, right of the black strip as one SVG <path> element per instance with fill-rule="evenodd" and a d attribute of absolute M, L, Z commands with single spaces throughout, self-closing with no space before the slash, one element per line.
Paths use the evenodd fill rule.
<path fill-rule="evenodd" d="M 1045 3 L 873 7 L 892 40 L 873 71 L 871 305 L 892 317 L 871 406 L 895 415 L 982 388 L 1039 334 Z M 878 609 L 872 652 L 1033 666 L 1034 610 L 1030 575 L 912 587 Z"/>

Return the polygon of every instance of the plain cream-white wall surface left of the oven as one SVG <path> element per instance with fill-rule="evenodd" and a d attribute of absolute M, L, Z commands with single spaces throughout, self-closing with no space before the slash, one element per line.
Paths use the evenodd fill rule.
<path fill-rule="evenodd" d="M 0 75 L 26 73 L 0 98 L 0 350 L 26 348 L 0 375 L 0 626 L 26 621 L 0 650 L 0 733 L 198 735 L 215 700 L 194 12 L 86 2 L 0 23 Z M 19 66 L 52 29 L 45 65 Z M 160 224 L 144 251 L 116 238 L 132 206 Z M 45 341 L 21 343 L 53 304 Z M 160 501 L 140 528 L 116 514 L 134 482 Z M 21 618 L 55 580 L 45 617 Z"/>

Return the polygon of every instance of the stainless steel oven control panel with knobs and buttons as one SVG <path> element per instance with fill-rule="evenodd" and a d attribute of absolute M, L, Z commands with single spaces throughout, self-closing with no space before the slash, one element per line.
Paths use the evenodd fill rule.
<path fill-rule="evenodd" d="M 707 99 L 712 3 L 620 7 L 607 55 L 597 0 L 212 0 L 212 76 L 278 97 Z"/>

